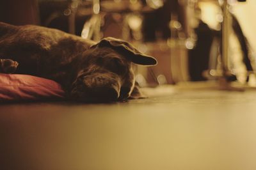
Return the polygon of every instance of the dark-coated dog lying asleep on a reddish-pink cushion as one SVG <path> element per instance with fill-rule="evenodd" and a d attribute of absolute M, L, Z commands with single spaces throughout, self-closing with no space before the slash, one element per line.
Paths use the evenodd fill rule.
<path fill-rule="evenodd" d="M 140 97 L 132 63 L 156 65 L 130 43 L 116 38 L 85 40 L 57 29 L 0 22 L 0 56 L 19 66 L 15 73 L 59 82 L 68 98 L 109 102 Z M 4 61 L 2 59 L 2 61 Z"/>

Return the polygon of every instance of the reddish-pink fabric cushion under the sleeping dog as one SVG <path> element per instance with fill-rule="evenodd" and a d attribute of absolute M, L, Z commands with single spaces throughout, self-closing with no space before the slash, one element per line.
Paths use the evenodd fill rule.
<path fill-rule="evenodd" d="M 0 73 L 0 101 L 63 98 L 60 84 L 32 75 Z"/>

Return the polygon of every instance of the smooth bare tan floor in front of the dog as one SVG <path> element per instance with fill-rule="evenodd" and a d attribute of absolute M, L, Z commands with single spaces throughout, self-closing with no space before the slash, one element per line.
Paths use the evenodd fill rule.
<path fill-rule="evenodd" d="M 0 105 L 1 167 L 256 169 L 256 90 L 184 87 L 114 104 Z"/>

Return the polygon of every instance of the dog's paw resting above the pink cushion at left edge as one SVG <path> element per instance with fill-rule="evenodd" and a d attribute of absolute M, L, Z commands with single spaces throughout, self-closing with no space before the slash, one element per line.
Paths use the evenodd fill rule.
<path fill-rule="evenodd" d="M 12 59 L 0 59 L 0 71 L 2 73 L 14 73 L 19 63 Z"/>

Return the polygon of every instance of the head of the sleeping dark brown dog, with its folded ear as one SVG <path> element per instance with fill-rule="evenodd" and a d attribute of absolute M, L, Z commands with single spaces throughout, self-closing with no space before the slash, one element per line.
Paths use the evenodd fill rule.
<path fill-rule="evenodd" d="M 84 57 L 85 56 L 85 57 Z M 104 38 L 84 52 L 71 97 L 83 102 L 108 102 L 140 96 L 134 88 L 132 63 L 156 65 L 156 59 L 142 54 L 130 43 Z"/>

